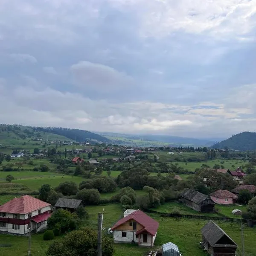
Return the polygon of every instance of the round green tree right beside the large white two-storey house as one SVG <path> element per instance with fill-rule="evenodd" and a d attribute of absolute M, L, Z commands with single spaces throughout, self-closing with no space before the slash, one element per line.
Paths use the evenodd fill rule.
<path fill-rule="evenodd" d="M 76 213 L 71 213 L 64 209 L 57 209 L 47 219 L 47 227 L 51 230 L 57 228 L 61 233 L 65 233 L 72 229 L 70 226 L 73 225 L 73 221 L 77 221 L 77 218 Z"/>

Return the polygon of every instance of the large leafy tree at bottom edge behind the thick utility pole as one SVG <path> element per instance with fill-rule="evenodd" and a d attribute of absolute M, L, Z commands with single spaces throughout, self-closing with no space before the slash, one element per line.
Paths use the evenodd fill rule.
<path fill-rule="evenodd" d="M 50 244 L 48 256 L 97 256 L 97 232 L 89 227 L 75 230 Z M 113 256 L 112 239 L 102 237 L 102 256 Z"/>

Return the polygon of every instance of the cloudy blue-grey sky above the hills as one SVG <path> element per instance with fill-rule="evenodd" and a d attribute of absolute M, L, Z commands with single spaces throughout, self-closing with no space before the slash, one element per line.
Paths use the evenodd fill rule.
<path fill-rule="evenodd" d="M 226 138 L 255 68 L 256 0 L 0 1 L 0 123 Z"/>

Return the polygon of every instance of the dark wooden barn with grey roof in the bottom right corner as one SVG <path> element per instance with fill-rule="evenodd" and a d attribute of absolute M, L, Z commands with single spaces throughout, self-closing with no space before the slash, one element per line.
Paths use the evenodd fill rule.
<path fill-rule="evenodd" d="M 215 222 L 209 221 L 201 233 L 210 256 L 236 256 L 236 243 Z"/>

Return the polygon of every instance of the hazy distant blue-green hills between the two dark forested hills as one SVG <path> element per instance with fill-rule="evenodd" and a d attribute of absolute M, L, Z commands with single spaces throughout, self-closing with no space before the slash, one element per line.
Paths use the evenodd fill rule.
<path fill-rule="evenodd" d="M 176 137 L 169 135 L 152 135 L 152 134 L 118 134 L 111 132 L 100 133 L 107 137 L 115 144 L 137 145 L 137 146 L 209 146 L 214 142 L 210 140 L 200 140 L 186 137 Z"/>

